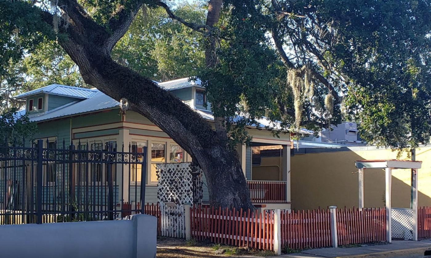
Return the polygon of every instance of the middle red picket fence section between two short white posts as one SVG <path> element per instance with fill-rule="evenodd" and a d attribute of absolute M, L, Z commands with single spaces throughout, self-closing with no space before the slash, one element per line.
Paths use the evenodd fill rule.
<path fill-rule="evenodd" d="M 329 210 L 281 212 L 281 247 L 290 249 L 331 246 Z"/>

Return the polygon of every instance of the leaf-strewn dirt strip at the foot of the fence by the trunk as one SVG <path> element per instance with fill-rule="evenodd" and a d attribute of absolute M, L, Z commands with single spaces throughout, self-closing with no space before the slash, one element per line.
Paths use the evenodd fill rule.
<path fill-rule="evenodd" d="M 220 252 L 222 251 L 222 253 Z M 217 254 L 219 252 L 219 254 Z M 158 237 L 157 258 L 198 258 L 198 257 L 256 257 L 274 255 L 273 252 L 239 249 L 232 246 L 185 241 L 178 238 Z"/>

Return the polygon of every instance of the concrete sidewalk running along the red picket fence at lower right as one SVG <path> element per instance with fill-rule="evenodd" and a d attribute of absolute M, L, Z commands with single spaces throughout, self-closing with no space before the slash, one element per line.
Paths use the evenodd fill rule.
<path fill-rule="evenodd" d="M 387 258 L 387 257 L 402 257 L 414 258 L 425 255 L 425 251 L 431 251 L 431 240 L 423 241 L 392 241 L 391 244 L 385 245 L 370 245 L 354 248 L 322 248 L 310 249 L 297 254 L 280 255 L 278 258 Z M 427 252 L 428 255 L 428 252 Z M 431 253 L 429 254 L 431 255 Z M 431 256 L 430 256 L 431 257 Z"/>

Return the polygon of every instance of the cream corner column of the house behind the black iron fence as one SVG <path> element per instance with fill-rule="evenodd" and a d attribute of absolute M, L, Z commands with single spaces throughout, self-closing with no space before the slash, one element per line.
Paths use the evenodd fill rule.
<path fill-rule="evenodd" d="M 119 142 L 117 151 L 121 151 L 122 144 L 124 144 L 124 151 L 129 151 L 129 143 L 131 141 L 129 135 L 129 129 L 120 129 L 119 130 Z M 123 202 L 129 202 L 129 195 L 126 192 L 129 188 L 130 184 L 130 172 L 128 170 L 128 166 L 124 164 L 117 164 L 117 182 L 119 182 L 119 196 L 123 199 Z M 122 179 L 124 178 L 124 182 Z M 123 184 L 122 184 L 123 182 Z M 121 200 L 120 200 L 121 201 Z"/>

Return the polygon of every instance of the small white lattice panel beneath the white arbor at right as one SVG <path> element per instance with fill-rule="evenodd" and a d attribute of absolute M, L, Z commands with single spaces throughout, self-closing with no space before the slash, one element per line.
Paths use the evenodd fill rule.
<path fill-rule="evenodd" d="M 392 208 L 392 237 L 413 239 L 413 210 Z"/>

